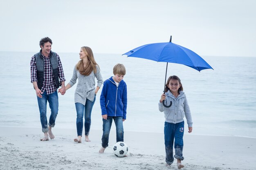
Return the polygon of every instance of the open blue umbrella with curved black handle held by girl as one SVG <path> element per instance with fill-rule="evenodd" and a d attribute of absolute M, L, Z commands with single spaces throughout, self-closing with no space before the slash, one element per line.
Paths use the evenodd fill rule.
<path fill-rule="evenodd" d="M 123 55 L 127 55 L 127 57 L 145 58 L 145 59 L 153 60 L 157 62 L 167 62 L 164 88 L 166 84 L 168 62 L 183 64 L 185 66 L 194 68 L 197 71 L 201 71 L 208 68 L 213 69 L 198 54 L 196 54 L 195 52 L 183 46 L 172 43 L 171 39 L 172 39 L 172 36 L 170 38 L 170 42 L 153 43 L 153 44 L 146 44 L 143 46 L 139 46 L 136 49 L 133 49 L 131 51 L 128 51 L 127 53 L 124 53 Z M 164 106 L 166 105 L 164 104 Z M 166 107 L 170 107 L 170 106 L 166 106 Z"/>

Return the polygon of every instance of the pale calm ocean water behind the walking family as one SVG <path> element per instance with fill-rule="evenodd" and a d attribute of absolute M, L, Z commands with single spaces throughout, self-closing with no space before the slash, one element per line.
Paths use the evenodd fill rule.
<path fill-rule="evenodd" d="M 36 52 L 0 52 L 0 126 L 41 128 L 36 93 L 30 83 L 30 60 Z M 58 53 L 67 84 L 79 61 L 78 53 Z M 166 63 L 121 54 L 94 54 L 103 79 L 113 75 L 117 63 L 126 67 L 128 88 L 126 131 L 163 132 L 164 114 L 158 102 L 164 90 Z M 180 77 L 193 118 L 191 135 L 256 138 L 256 57 L 202 56 L 214 70 L 198 72 L 181 64 L 168 64 L 167 78 Z M 56 127 L 74 129 L 74 91 L 59 94 Z M 102 129 L 99 96 L 92 110 L 91 129 Z M 47 117 L 50 109 L 47 107 Z M 113 125 L 115 126 L 115 125 Z M 187 132 L 185 119 L 185 134 Z"/>

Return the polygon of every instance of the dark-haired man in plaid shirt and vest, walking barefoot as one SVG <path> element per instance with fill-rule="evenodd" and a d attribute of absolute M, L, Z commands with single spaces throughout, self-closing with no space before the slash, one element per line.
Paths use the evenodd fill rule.
<path fill-rule="evenodd" d="M 54 139 L 52 128 L 58 114 L 58 93 L 61 86 L 62 95 L 65 94 L 65 77 L 60 57 L 51 51 L 52 40 L 48 37 L 40 40 L 40 52 L 36 53 L 30 61 L 31 83 L 36 90 L 40 121 L 44 137 L 41 141 Z M 47 124 L 46 106 L 47 101 L 51 109 L 49 124 Z M 49 135 L 48 135 L 49 134 Z"/>

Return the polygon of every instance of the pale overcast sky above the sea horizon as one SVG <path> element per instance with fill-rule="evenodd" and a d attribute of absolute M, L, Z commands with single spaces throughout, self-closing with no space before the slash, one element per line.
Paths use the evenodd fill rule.
<path fill-rule="evenodd" d="M 172 42 L 212 56 L 256 57 L 256 0 L 0 0 L 0 51 L 126 53 Z"/>

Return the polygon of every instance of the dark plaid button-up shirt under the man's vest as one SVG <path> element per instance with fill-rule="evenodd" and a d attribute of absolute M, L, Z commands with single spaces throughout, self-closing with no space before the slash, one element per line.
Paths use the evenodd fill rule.
<path fill-rule="evenodd" d="M 58 77 L 60 79 L 60 82 L 66 81 L 66 79 L 64 77 L 64 72 L 63 72 L 60 57 L 58 56 L 57 53 L 56 53 L 56 55 L 58 58 Z M 57 90 L 57 88 L 56 88 L 56 83 L 54 81 L 54 75 L 52 72 L 50 57 L 43 56 L 43 59 L 44 59 L 44 80 L 43 80 L 41 91 L 42 91 L 42 93 L 44 93 L 44 91 L 46 91 L 46 94 L 48 95 L 48 94 L 54 93 Z M 31 72 L 31 83 L 37 82 L 35 55 L 31 58 L 31 61 L 30 61 L 30 72 Z"/>

